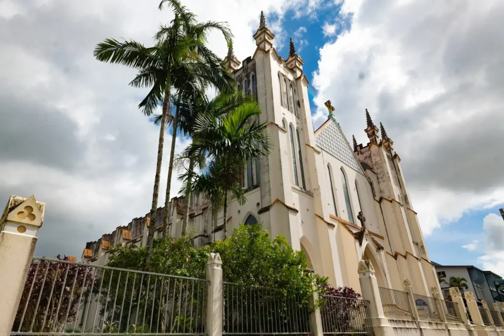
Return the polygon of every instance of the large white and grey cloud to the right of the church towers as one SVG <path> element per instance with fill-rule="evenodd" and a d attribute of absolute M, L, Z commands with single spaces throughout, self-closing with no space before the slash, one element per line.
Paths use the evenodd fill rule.
<path fill-rule="evenodd" d="M 320 49 L 314 126 L 327 119 L 328 99 L 358 142 L 368 142 L 365 108 L 383 122 L 425 234 L 503 202 L 502 15 L 497 0 L 347 1 L 335 22 L 351 18 L 351 29 Z"/>

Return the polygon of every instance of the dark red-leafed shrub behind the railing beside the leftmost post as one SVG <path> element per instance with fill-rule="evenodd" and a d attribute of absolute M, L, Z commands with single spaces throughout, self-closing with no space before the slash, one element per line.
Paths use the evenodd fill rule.
<path fill-rule="evenodd" d="M 67 256 L 57 260 L 68 261 Z M 13 331 L 62 332 L 96 289 L 94 268 L 34 260 L 28 271 Z"/>

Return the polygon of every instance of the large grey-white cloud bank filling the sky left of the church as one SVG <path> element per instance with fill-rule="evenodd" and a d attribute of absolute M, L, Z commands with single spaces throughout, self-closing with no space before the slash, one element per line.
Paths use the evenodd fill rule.
<path fill-rule="evenodd" d="M 92 52 L 108 37 L 150 45 L 159 24 L 172 18 L 158 5 L 0 2 L 0 201 L 34 194 L 46 202 L 39 256 L 80 256 L 86 241 L 150 210 L 159 129 L 137 108 L 147 90 L 128 86 L 135 70 L 98 62 Z M 281 35 L 279 23 L 294 6 L 284 0 L 184 5 L 200 21 L 227 22 L 238 59 L 254 53 L 261 10 Z M 218 33 L 209 35 L 209 46 L 227 53 Z M 170 142 L 167 133 L 158 206 L 164 204 Z M 176 152 L 188 143 L 177 138 Z M 173 175 L 171 197 L 180 187 Z"/>

